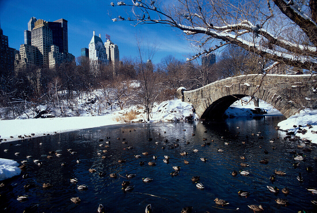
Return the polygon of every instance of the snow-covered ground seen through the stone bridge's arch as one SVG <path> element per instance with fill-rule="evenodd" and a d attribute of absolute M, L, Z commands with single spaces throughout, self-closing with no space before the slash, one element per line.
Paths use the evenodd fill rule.
<path fill-rule="evenodd" d="M 239 116 L 252 116 L 254 115 L 251 110 L 254 110 L 256 107 L 254 106 L 254 102 L 251 100 L 251 97 L 243 97 L 242 100 L 244 101 L 241 103 L 240 100 L 236 101 L 235 103 L 231 104 L 231 106 L 224 112 L 224 115 L 228 117 L 239 117 Z M 245 104 L 249 102 L 248 104 Z M 265 101 L 259 101 L 259 108 L 262 108 L 267 111 L 269 115 L 281 115 L 281 113 L 276 110 L 272 105 L 266 103 Z"/>

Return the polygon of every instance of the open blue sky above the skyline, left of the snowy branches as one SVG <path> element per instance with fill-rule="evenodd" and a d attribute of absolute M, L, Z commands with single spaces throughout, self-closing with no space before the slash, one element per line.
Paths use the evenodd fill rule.
<path fill-rule="evenodd" d="M 128 21 L 113 22 L 113 17 L 126 16 L 124 9 L 128 7 L 111 7 L 111 1 L 77 0 L 77 1 L 16 1 L 0 0 L 0 22 L 3 34 L 9 37 L 9 46 L 19 49 L 24 43 L 23 31 L 28 28 L 31 17 L 55 21 L 64 18 L 68 21 L 68 51 L 75 57 L 80 56 L 80 49 L 88 48 L 88 43 L 95 30 L 96 35 L 101 33 L 101 39 L 106 41 L 105 34 L 111 36 L 113 43 L 119 46 L 120 59 L 137 56 L 135 34 L 144 40 L 159 45 L 159 51 L 153 58 L 154 63 L 161 58 L 172 55 L 186 60 L 192 55 L 190 44 L 184 39 L 182 31 L 162 26 L 161 24 L 144 24 L 136 27 Z M 117 3 L 117 1 L 113 1 Z"/>

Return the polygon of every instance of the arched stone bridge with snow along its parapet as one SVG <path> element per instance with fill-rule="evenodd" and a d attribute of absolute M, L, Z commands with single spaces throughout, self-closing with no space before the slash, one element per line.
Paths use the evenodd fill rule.
<path fill-rule="evenodd" d="M 244 75 L 196 90 L 180 88 L 177 96 L 192 103 L 201 119 L 222 116 L 232 103 L 245 96 L 258 97 L 290 117 L 303 108 L 317 109 L 317 75 Z"/>

